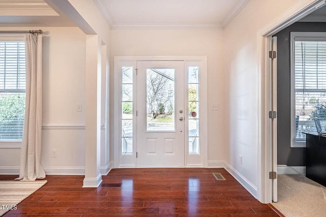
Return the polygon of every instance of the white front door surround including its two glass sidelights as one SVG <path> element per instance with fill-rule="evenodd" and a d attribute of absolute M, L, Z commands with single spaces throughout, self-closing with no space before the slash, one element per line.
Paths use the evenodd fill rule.
<path fill-rule="evenodd" d="M 184 68 L 184 78 L 183 83 L 181 82 L 181 86 L 179 85 L 179 81 L 182 78 L 178 78 L 179 81 L 177 84 L 178 89 L 183 92 L 183 100 L 177 100 L 176 103 L 180 104 L 183 102 L 184 109 L 182 121 L 179 120 L 180 109 L 175 108 L 175 121 L 184 122 L 183 123 L 183 156 L 181 156 L 178 160 L 182 160 L 182 164 L 171 163 L 170 166 L 161 166 L 161 165 L 150 165 L 148 163 L 147 166 L 142 165 L 142 167 L 207 167 L 207 57 L 206 56 L 115 56 L 114 57 L 114 168 L 134 168 L 138 167 L 138 156 L 142 153 L 138 153 L 138 128 L 139 128 L 139 120 L 137 114 L 137 109 L 139 105 L 139 94 L 138 86 L 138 76 L 137 76 L 137 63 L 140 61 L 162 61 L 167 63 L 171 61 L 182 62 Z M 129 68 L 129 72 L 125 73 L 125 70 Z M 169 68 L 169 67 L 168 67 Z M 194 81 L 194 70 L 197 69 L 198 80 Z M 179 70 L 180 71 L 180 70 Z M 139 72 L 140 73 L 140 72 Z M 125 75 L 128 74 L 128 78 Z M 132 75 L 132 76 L 131 76 Z M 123 78 L 124 77 L 124 78 Z M 126 79 L 127 78 L 127 79 Z M 177 80 L 178 80 L 177 79 Z M 195 83 L 194 83 L 195 82 Z M 196 83 L 198 82 L 198 83 Z M 199 83 L 200 82 L 200 83 Z M 132 99 L 129 98 L 126 101 L 126 95 L 124 92 L 124 88 L 129 86 L 132 83 Z M 197 91 L 197 100 L 194 102 L 193 97 L 188 99 L 188 86 L 189 88 L 196 87 Z M 180 88 L 182 87 L 182 88 Z M 131 92 L 129 92 L 131 94 Z M 144 96 L 145 97 L 145 96 Z M 143 97 L 143 98 L 144 98 Z M 200 110 L 196 110 L 197 116 L 189 116 L 188 114 L 188 103 L 199 105 Z M 132 106 L 132 113 L 126 114 L 124 111 L 124 105 L 130 104 Z M 178 106 L 178 105 L 176 105 Z M 190 106 L 190 105 L 189 105 Z M 130 106 L 129 106 L 130 108 Z M 193 108 L 193 107 L 192 107 Z M 197 106 L 197 108 L 199 108 Z M 138 114 L 139 111 L 138 111 Z M 131 118 L 131 119 L 130 119 Z M 194 125 L 194 123 L 199 123 Z M 145 119 L 146 120 L 146 119 Z M 142 121 L 144 122 L 144 121 Z M 176 125 L 176 129 L 180 126 Z M 197 133 L 194 134 L 194 128 L 197 129 Z M 122 130 L 123 129 L 123 130 Z M 127 130 L 127 131 L 126 131 Z M 179 130 L 181 131 L 181 130 Z M 180 132 L 181 133 L 181 132 Z M 127 138 L 125 138 L 127 137 Z M 170 142 L 170 145 L 167 148 L 171 147 L 171 138 L 167 138 L 167 143 Z M 150 138 L 152 139 L 152 138 Z M 170 140 L 169 140 L 170 139 Z M 130 141 L 127 144 L 126 141 Z M 195 147 L 197 147 L 197 153 L 194 153 L 194 142 L 196 141 Z M 196 146 L 197 145 L 197 146 Z M 199 145 L 199 146 L 198 146 Z M 127 146 L 127 149 L 126 149 Z M 199 147 L 199 149 L 198 149 Z M 181 148 L 181 147 L 179 147 Z M 195 151 L 195 152 L 196 152 Z M 168 151 L 173 152 L 173 151 Z M 168 154 L 166 154 L 168 155 Z M 172 154 L 170 154 L 172 155 Z M 171 156 L 170 156 L 171 157 Z M 176 162 L 174 161 L 174 162 Z M 176 166 L 180 165 L 180 166 Z"/>

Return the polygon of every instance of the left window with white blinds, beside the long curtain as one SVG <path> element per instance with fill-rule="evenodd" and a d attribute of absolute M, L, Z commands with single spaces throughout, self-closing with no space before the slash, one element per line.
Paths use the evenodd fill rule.
<path fill-rule="evenodd" d="M 0 39 L 0 141 L 22 139 L 25 69 L 24 41 Z"/>

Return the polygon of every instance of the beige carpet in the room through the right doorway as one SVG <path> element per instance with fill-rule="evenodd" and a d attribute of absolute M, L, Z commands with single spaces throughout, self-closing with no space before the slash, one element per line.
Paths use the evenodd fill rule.
<path fill-rule="evenodd" d="M 326 216 L 326 187 L 305 175 L 278 175 L 278 202 L 272 203 L 286 217 Z"/>

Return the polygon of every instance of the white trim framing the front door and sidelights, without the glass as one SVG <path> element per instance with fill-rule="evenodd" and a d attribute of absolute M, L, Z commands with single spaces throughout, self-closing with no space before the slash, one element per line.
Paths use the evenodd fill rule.
<path fill-rule="evenodd" d="M 201 153 L 198 156 L 189 156 L 187 154 L 187 139 L 185 138 L 185 167 L 208 167 L 208 140 L 207 140 L 207 56 L 115 56 L 114 57 L 114 168 L 119 168 L 119 145 L 121 138 L 121 73 L 119 72 L 121 63 L 131 64 L 133 67 L 137 66 L 137 61 L 184 61 L 186 70 L 188 66 L 200 66 L 200 144 Z M 135 69 L 135 68 L 134 68 Z M 186 89 L 186 88 L 185 88 Z M 185 91 L 186 93 L 187 91 Z M 186 102 L 188 103 L 188 102 Z M 134 123 L 133 123 L 133 126 Z M 137 129 L 133 129 L 133 138 Z M 187 135 L 187 134 L 186 134 Z M 198 159 L 196 159 L 196 157 Z M 196 163 L 191 163 L 193 161 Z M 198 163 L 199 162 L 199 163 Z M 134 167 L 135 162 L 129 161 L 128 165 L 123 167 Z"/>

